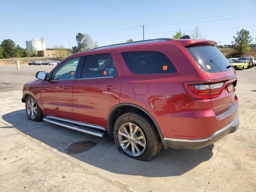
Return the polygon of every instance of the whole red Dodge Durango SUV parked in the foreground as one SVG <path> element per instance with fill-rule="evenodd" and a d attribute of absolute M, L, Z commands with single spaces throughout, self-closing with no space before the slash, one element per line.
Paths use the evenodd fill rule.
<path fill-rule="evenodd" d="M 198 149 L 239 126 L 236 72 L 211 40 L 156 39 L 74 54 L 24 85 L 28 118 L 113 137 L 149 161 Z"/>

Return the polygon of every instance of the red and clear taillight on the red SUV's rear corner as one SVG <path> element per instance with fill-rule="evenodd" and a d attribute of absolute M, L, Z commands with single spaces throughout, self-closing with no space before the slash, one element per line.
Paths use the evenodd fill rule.
<path fill-rule="evenodd" d="M 220 96 L 224 82 L 184 83 L 185 90 L 195 99 L 210 99 Z"/>

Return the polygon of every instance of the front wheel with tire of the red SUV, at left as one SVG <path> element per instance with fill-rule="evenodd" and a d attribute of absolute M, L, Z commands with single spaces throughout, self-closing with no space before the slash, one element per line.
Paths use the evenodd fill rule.
<path fill-rule="evenodd" d="M 43 113 L 36 100 L 32 96 L 26 98 L 26 114 L 32 121 L 40 122 L 43 120 Z"/>

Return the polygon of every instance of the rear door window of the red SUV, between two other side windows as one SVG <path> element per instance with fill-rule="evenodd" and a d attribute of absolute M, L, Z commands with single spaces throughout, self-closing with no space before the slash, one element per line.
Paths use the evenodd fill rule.
<path fill-rule="evenodd" d="M 81 78 L 104 78 L 116 76 L 116 66 L 111 54 L 105 53 L 86 56 Z"/>

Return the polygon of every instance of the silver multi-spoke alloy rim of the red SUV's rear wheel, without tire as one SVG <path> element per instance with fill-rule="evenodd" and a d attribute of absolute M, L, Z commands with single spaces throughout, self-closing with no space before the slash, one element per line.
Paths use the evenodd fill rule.
<path fill-rule="evenodd" d="M 146 137 L 134 123 L 124 123 L 119 128 L 118 140 L 122 149 L 130 156 L 140 156 L 146 149 Z"/>

